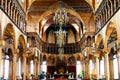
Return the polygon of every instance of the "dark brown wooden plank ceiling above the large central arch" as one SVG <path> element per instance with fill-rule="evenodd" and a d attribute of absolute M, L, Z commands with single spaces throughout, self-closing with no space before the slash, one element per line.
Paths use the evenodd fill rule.
<path fill-rule="evenodd" d="M 91 6 L 85 0 L 62 0 L 68 6 L 72 7 L 75 11 L 79 12 L 91 12 Z M 47 11 L 54 3 L 59 0 L 35 0 L 29 8 L 30 15 L 41 15 Z"/>

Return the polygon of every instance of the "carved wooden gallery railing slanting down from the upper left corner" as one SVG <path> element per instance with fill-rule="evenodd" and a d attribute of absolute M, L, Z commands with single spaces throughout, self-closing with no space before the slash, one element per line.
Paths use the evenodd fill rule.
<path fill-rule="evenodd" d="M 26 32 L 26 14 L 18 0 L 0 0 L 0 9 L 22 33 Z"/>

